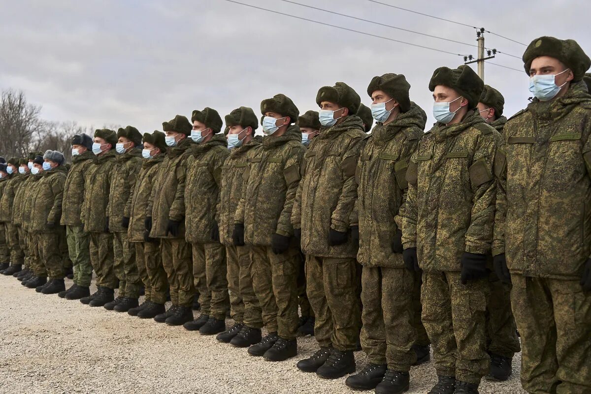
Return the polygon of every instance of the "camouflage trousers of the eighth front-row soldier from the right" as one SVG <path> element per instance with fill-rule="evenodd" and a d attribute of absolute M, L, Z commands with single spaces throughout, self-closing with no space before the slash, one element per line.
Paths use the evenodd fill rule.
<path fill-rule="evenodd" d="M 184 238 L 162 238 L 160 252 L 170 286 L 170 301 L 173 305 L 191 307 L 195 294 L 191 245 Z"/>

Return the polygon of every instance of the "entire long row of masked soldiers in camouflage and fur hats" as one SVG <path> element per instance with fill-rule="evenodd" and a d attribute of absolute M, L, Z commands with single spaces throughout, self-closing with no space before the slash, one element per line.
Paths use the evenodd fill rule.
<path fill-rule="evenodd" d="M 302 116 L 285 95 L 263 100 L 262 138 L 252 109 L 226 115 L 221 133 L 205 108 L 164 132 L 75 135 L 69 172 L 56 151 L 11 159 L 4 274 L 275 362 L 297 355 L 307 295 L 319 349 L 298 369 L 352 374 L 361 342 L 369 364 L 346 385 L 378 394 L 408 390 L 430 344 L 431 394 L 507 379 L 517 322 L 525 390 L 591 392 L 591 60 L 553 37 L 523 60 L 534 98 L 509 121 L 470 67 L 440 67 L 427 132 L 405 77 L 384 74 L 369 83 L 371 108 L 342 82 Z"/>

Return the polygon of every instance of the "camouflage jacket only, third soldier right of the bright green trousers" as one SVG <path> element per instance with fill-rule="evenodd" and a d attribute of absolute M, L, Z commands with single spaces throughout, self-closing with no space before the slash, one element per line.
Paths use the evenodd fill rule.
<path fill-rule="evenodd" d="M 164 161 L 165 154 L 144 160 L 139 170 L 134 190 L 131 191 L 131 205 L 129 207 L 129 228 L 127 236 L 129 242 L 144 242 L 144 220 L 148 214 L 148 200 L 152 194 L 152 185 L 158 168 Z M 151 212 L 150 212 L 151 214 Z"/>

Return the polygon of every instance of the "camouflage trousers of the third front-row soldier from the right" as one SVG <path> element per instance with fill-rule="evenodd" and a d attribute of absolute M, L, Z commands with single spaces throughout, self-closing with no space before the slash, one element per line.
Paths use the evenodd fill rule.
<path fill-rule="evenodd" d="M 361 346 L 372 364 L 410 371 L 414 344 L 429 340 L 421 323 L 421 275 L 405 268 L 363 267 Z"/>

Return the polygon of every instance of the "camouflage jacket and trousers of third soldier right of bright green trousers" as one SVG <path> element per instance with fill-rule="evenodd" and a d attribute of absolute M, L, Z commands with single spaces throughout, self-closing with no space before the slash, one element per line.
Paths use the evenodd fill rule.
<path fill-rule="evenodd" d="M 168 281 L 162 265 L 160 241 L 155 238 L 152 238 L 150 242 L 144 240 L 146 232 L 144 220 L 147 215 L 148 198 L 152 193 L 154 178 L 163 160 L 164 153 L 144 160 L 131 194 L 131 205 L 125 210 L 129 214 L 128 242 L 135 246 L 135 259 L 139 276 L 144 282 L 145 299 L 156 304 L 166 302 Z"/>

